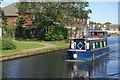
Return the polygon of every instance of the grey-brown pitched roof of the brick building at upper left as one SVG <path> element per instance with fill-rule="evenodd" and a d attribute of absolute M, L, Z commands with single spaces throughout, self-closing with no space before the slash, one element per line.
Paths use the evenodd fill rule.
<path fill-rule="evenodd" d="M 18 16 L 18 8 L 16 7 L 16 4 L 17 3 L 13 3 L 2 8 L 2 10 L 5 13 L 5 16 Z"/>

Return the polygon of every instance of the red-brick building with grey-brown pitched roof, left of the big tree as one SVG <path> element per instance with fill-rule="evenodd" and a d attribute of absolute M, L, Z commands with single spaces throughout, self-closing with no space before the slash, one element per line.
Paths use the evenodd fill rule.
<path fill-rule="evenodd" d="M 5 13 L 5 16 L 8 18 L 8 25 L 13 26 L 13 22 L 15 22 L 19 16 L 18 14 L 18 8 L 16 7 L 17 3 L 13 3 L 11 5 L 8 5 L 6 7 L 3 7 L 2 10 Z M 28 18 L 28 14 L 24 16 L 24 18 Z M 32 20 L 29 18 L 27 19 L 27 23 L 23 25 L 23 27 L 31 27 L 32 26 Z"/>

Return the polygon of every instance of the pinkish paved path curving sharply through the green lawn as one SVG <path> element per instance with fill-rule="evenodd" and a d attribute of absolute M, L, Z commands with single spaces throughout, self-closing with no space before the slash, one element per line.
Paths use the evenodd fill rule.
<path fill-rule="evenodd" d="M 20 51 L 32 51 L 32 50 L 39 50 L 39 49 L 44 49 L 44 48 L 57 46 L 57 45 L 46 44 L 46 43 L 38 43 L 38 42 L 24 42 L 24 43 L 42 44 L 42 45 L 45 45 L 45 47 L 39 47 L 39 48 L 33 48 L 33 49 L 24 49 L 24 50 L 20 50 Z"/>

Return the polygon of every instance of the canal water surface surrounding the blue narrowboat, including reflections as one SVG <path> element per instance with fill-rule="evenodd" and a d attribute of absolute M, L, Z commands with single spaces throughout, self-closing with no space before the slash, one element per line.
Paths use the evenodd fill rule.
<path fill-rule="evenodd" d="M 3 78 L 118 78 L 118 36 L 108 38 L 113 51 L 91 62 L 68 62 L 66 50 L 4 61 Z M 120 43 L 120 42 L 119 42 Z"/>

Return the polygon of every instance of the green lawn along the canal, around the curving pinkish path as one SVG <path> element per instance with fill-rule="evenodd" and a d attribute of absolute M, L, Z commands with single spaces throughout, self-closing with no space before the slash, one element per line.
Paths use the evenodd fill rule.
<path fill-rule="evenodd" d="M 57 45 L 57 46 L 44 48 L 44 49 L 40 49 L 40 50 L 20 51 L 23 49 L 44 47 L 44 45 L 35 44 L 35 43 L 24 43 L 24 42 L 39 42 L 39 43 L 53 44 L 53 45 Z M 66 41 L 15 41 L 15 44 L 17 46 L 17 49 L 3 50 L 2 55 L 0 55 L 0 57 L 11 56 L 11 55 L 15 55 L 15 54 L 30 53 L 30 52 L 34 52 L 34 53 L 35 52 L 44 52 L 44 51 L 50 50 L 50 49 L 57 49 L 57 48 L 63 48 L 63 47 L 69 46 L 69 43 L 66 43 Z"/>

